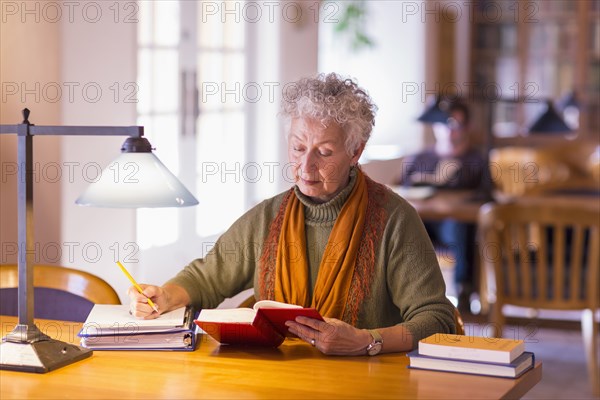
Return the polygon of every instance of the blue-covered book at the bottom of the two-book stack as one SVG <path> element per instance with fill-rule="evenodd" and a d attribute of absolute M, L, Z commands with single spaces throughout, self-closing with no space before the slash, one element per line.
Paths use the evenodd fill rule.
<path fill-rule="evenodd" d="M 497 376 L 501 378 L 518 378 L 535 365 L 535 356 L 530 352 L 524 352 L 508 364 L 430 357 L 419 354 L 418 350 L 411 351 L 407 356 L 409 357 L 408 368 Z"/>

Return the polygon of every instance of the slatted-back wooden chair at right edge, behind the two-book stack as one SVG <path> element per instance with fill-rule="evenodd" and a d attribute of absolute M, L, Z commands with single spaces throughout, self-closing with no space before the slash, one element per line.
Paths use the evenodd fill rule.
<path fill-rule="evenodd" d="M 486 204 L 479 214 L 481 262 L 493 277 L 491 321 L 502 333 L 504 305 L 582 310 L 581 328 L 595 395 L 600 308 L 600 213 L 549 200 Z M 490 273 L 493 271 L 493 273 Z"/>

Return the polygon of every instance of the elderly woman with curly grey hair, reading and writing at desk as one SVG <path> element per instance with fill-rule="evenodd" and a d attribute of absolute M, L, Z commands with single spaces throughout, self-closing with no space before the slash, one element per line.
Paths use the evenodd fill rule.
<path fill-rule="evenodd" d="M 254 287 L 257 299 L 316 308 L 325 322 L 288 321 L 326 354 L 413 349 L 453 332 L 453 306 L 414 209 L 358 167 L 374 125 L 367 93 L 336 74 L 284 93 L 291 189 L 263 201 L 162 287 L 144 286 L 161 312 L 216 307 Z M 139 318 L 158 314 L 130 289 Z"/>

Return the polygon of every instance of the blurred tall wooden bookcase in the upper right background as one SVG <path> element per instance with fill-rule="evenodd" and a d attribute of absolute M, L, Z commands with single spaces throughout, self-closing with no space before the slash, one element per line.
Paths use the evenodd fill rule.
<path fill-rule="evenodd" d="M 574 92 L 578 138 L 600 131 L 600 0 L 477 0 L 471 18 L 471 79 L 493 144 L 527 133 L 546 99 Z M 558 109 L 561 112 L 560 109 Z M 556 136 L 556 135 L 553 135 Z M 559 135 L 563 136 L 563 135 Z M 597 140 L 597 139 L 596 139 Z"/>

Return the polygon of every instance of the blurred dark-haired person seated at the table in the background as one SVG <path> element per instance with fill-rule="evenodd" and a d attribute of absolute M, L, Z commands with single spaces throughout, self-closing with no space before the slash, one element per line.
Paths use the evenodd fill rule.
<path fill-rule="evenodd" d="M 488 179 L 487 163 L 469 140 L 469 109 L 460 102 L 450 104 L 446 124 L 433 124 L 435 145 L 403 164 L 400 181 L 405 186 L 429 185 L 443 189 L 477 189 Z M 431 240 L 453 253 L 458 308 L 469 311 L 475 262 L 475 224 L 452 219 L 424 221 Z"/>

